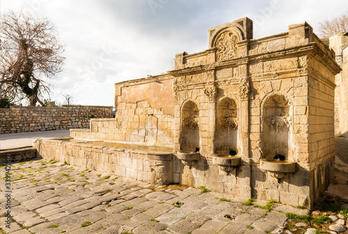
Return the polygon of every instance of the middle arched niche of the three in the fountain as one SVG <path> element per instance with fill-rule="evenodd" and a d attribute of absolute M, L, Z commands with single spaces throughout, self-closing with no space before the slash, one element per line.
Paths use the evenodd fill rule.
<path fill-rule="evenodd" d="M 217 106 L 214 153 L 235 156 L 238 153 L 238 108 L 228 97 Z"/>

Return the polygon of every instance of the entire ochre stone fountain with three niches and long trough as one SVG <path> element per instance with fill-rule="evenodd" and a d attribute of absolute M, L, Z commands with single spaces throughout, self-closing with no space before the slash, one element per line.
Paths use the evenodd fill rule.
<path fill-rule="evenodd" d="M 171 71 L 116 83 L 116 118 L 71 130 L 82 142 L 37 140 L 40 156 L 312 207 L 333 176 L 335 53 L 306 22 L 254 39 L 245 17 L 208 35 Z"/>

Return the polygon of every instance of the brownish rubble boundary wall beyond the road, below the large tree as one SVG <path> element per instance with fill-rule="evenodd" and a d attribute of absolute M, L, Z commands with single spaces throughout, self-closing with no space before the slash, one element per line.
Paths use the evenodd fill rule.
<path fill-rule="evenodd" d="M 0 108 L 0 134 L 88 128 L 90 119 L 111 115 L 112 106 L 11 106 Z"/>

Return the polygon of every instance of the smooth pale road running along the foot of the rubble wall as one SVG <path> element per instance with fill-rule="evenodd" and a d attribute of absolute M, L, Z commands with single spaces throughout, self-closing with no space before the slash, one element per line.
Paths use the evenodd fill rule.
<path fill-rule="evenodd" d="M 0 149 L 31 147 L 33 140 L 37 138 L 65 137 L 68 135 L 70 135 L 69 130 L 0 134 Z"/>

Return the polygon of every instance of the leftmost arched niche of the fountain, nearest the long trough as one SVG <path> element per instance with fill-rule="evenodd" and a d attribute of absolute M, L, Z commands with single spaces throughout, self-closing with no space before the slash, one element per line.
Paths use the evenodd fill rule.
<path fill-rule="evenodd" d="M 199 151 L 199 110 L 196 103 L 184 103 L 181 117 L 180 151 Z"/>

